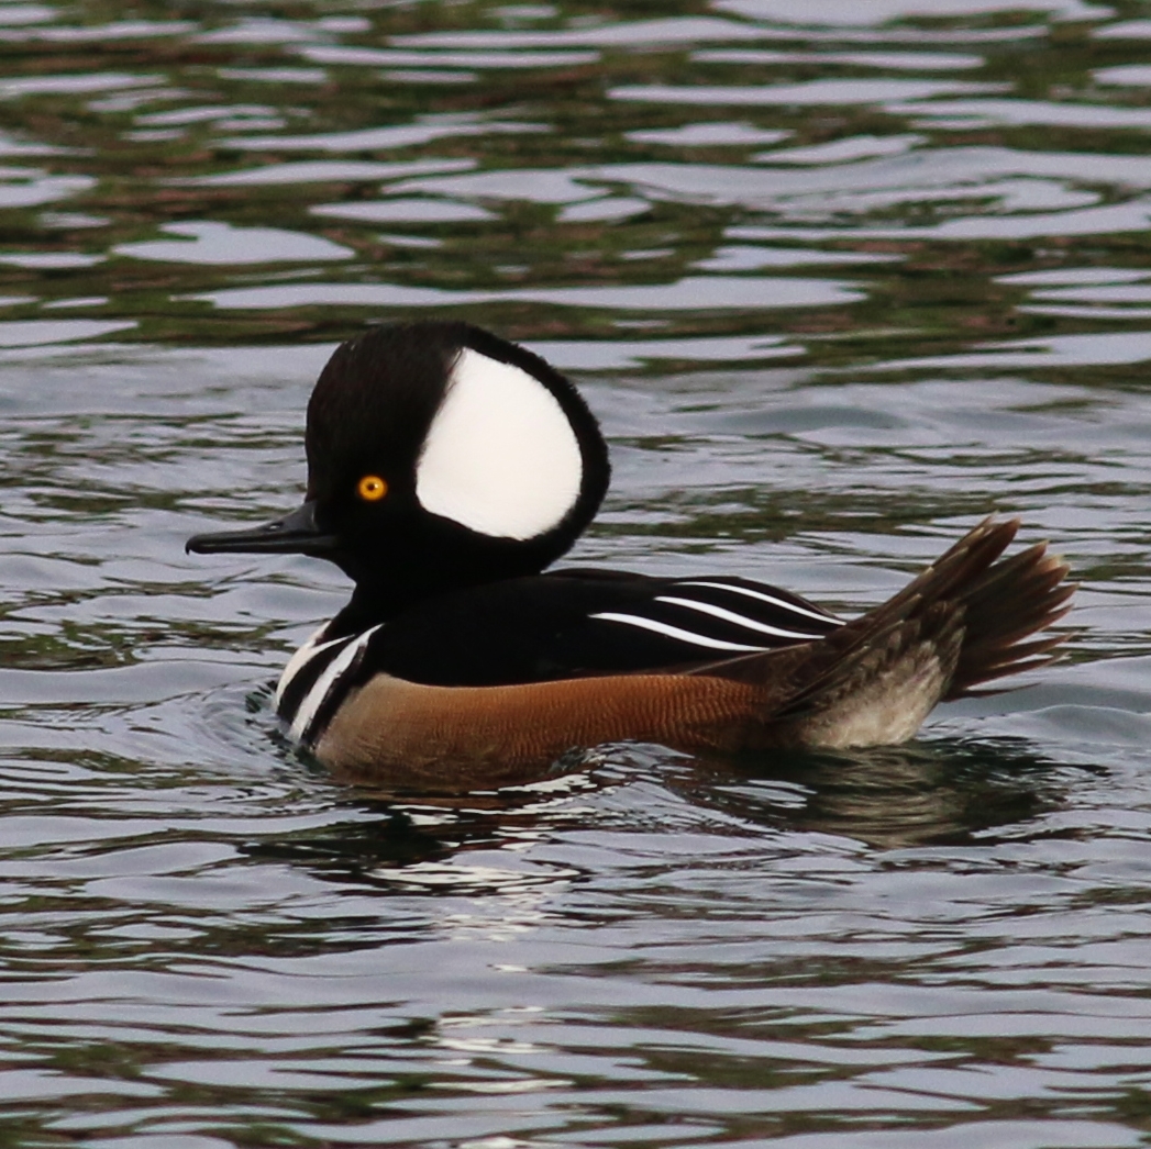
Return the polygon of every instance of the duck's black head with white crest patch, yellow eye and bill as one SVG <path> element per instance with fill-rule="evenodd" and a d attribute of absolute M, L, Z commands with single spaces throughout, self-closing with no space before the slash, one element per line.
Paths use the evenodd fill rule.
<path fill-rule="evenodd" d="M 337 347 L 305 445 L 299 510 L 188 550 L 330 559 L 398 607 L 542 570 L 592 521 L 610 474 L 571 383 L 467 323 L 389 324 Z"/>

